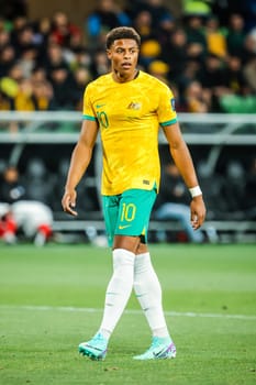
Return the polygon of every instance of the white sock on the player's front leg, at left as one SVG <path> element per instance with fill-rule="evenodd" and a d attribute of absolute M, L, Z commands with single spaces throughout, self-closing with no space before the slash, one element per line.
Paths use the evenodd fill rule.
<path fill-rule="evenodd" d="M 113 275 L 105 293 L 104 312 L 100 332 L 109 339 L 127 304 L 133 288 L 135 254 L 124 250 L 113 251 Z"/>

